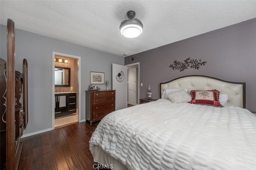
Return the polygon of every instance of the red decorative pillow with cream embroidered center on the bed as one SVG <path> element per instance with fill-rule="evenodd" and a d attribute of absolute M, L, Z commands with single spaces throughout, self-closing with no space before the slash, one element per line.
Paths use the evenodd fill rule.
<path fill-rule="evenodd" d="M 214 107 L 223 107 L 219 102 L 220 92 L 218 90 L 192 90 L 190 91 L 192 97 L 192 104 L 208 105 Z"/>

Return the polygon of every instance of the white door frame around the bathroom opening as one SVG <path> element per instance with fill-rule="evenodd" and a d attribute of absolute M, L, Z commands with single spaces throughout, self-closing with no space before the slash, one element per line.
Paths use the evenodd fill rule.
<path fill-rule="evenodd" d="M 78 122 L 81 122 L 81 62 L 80 59 L 81 57 L 76 56 L 76 55 L 69 55 L 69 54 L 64 54 L 64 53 L 58 53 L 55 51 L 52 51 L 52 129 L 55 128 L 54 124 L 55 124 L 55 111 L 54 111 L 54 102 L 55 102 L 55 95 L 54 95 L 54 89 L 55 89 L 55 85 L 54 85 L 54 67 L 55 67 L 55 63 L 54 63 L 54 58 L 55 55 L 61 55 L 63 57 L 70 57 L 70 58 L 74 58 L 74 59 L 78 59 Z"/>

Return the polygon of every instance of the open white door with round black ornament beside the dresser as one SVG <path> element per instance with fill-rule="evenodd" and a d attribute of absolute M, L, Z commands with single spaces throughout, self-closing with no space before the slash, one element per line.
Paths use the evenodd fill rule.
<path fill-rule="evenodd" d="M 112 64 L 112 90 L 116 90 L 116 110 L 127 107 L 127 67 Z"/>

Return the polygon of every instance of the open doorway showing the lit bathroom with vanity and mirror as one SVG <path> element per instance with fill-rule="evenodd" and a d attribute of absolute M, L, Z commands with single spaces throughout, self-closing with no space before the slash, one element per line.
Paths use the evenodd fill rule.
<path fill-rule="evenodd" d="M 52 128 L 80 121 L 80 57 L 53 52 Z"/>

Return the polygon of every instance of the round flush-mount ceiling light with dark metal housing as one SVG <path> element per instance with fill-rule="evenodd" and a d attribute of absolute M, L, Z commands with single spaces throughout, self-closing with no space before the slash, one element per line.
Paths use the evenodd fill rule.
<path fill-rule="evenodd" d="M 124 20 L 120 25 L 120 33 L 127 38 L 138 37 L 143 32 L 143 25 L 137 18 L 134 18 L 135 12 L 128 11 L 129 20 Z"/>

